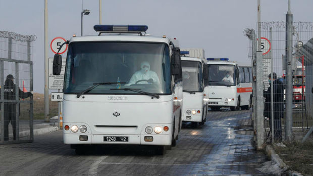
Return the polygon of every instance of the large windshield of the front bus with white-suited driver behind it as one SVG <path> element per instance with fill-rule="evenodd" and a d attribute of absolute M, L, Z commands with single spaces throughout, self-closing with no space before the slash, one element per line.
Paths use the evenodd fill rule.
<path fill-rule="evenodd" d="M 171 94 L 170 51 L 165 43 L 72 42 L 65 70 L 64 93 Z"/>

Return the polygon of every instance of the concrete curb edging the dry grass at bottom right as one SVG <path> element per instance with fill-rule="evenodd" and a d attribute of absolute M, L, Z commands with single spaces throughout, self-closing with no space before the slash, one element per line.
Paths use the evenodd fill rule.
<path fill-rule="evenodd" d="M 292 170 L 287 170 L 288 166 L 284 163 L 284 161 L 279 157 L 279 155 L 274 151 L 274 149 L 271 146 L 266 146 L 266 154 L 269 158 L 271 158 L 272 162 L 279 165 L 282 173 L 287 173 L 288 176 L 302 176 L 301 173 Z"/>

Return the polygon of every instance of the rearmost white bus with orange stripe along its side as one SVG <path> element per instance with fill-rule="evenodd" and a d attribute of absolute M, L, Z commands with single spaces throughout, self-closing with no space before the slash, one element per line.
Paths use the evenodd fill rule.
<path fill-rule="evenodd" d="M 208 79 L 204 94 L 213 111 L 250 109 L 252 105 L 251 64 L 238 65 L 228 58 L 207 58 Z"/>

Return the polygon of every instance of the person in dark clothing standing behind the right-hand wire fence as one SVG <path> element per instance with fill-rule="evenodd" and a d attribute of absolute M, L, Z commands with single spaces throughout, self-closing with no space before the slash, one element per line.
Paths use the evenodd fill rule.
<path fill-rule="evenodd" d="M 271 82 L 273 81 L 273 87 L 271 87 Z M 281 118 L 284 118 L 284 85 L 277 79 L 276 73 L 273 73 L 273 78 L 269 74 L 270 86 L 268 91 L 264 93 L 265 98 L 265 108 L 264 115 L 270 118 L 270 127 L 272 128 L 272 108 L 271 108 L 271 92 L 273 91 L 273 114 L 274 114 L 274 130 L 271 129 L 272 133 L 274 131 L 274 139 L 276 141 L 282 140 L 282 124 Z"/>

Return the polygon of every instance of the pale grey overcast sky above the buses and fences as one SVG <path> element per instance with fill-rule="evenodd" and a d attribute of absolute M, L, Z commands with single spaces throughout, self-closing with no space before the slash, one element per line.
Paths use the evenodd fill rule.
<path fill-rule="evenodd" d="M 261 1 L 263 22 L 285 21 L 287 0 Z M 98 0 L 84 0 L 84 35 L 96 35 Z M 48 0 L 48 43 L 80 35 L 81 0 Z M 291 0 L 293 21 L 313 21 L 312 0 Z M 0 30 L 36 35 L 34 92 L 44 91 L 44 0 L 0 0 Z M 102 0 L 102 24 L 145 24 L 151 35 L 176 37 L 180 48 L 203 48 L 206 57 L 250 62 L 245 28 L 255 28 L 257 0 Z M 49 49 L 49 57 L 53 57 Z M 66 57 L 65 55 L 63 57 Z"/>

